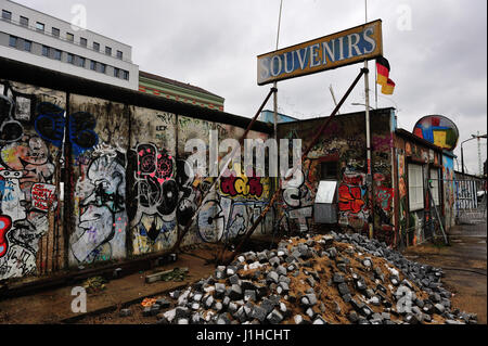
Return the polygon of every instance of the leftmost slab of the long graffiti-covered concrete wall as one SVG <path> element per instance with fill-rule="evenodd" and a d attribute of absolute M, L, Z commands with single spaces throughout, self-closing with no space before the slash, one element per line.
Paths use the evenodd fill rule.
<path fill-rule="evenodd" d="M 0 280 L 63 267 L 62 152 L 46 132 L 63 115 L 63 92 L 0 84 Z M 62 117 L 64 121 L 64 118 Z M 61 126 L 63 130 L 63 126 Z"/>

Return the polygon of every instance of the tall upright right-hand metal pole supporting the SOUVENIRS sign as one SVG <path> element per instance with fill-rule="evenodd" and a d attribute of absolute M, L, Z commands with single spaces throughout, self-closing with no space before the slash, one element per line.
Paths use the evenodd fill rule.
<path fill-rule="evenodd" d="M 364 23 L 368 23 L 368 0 L 364 0 Z M 373 177 L 371 174 L 371 131 L 370 131 L 370 73 L 368 69 L 368 60 L 364 61 L 364 93 L 365 93 L 365 136 L 367 136 L 367 188 L 368 188 L 368 204 L 370 209 L 369 217 L 369 236 L 373 238 L 373 223 L 374 223 L 374 213 L 373 213 Z"/>

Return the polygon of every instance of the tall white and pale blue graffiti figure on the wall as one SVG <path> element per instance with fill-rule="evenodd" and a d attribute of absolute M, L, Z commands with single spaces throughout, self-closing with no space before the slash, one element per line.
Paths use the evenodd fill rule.
<path fill-rule="evenodd" d="M 79 219 L 70 236 L 72 262 L 123 258 L 126 227 L 126 158 L 117 150 L 90 153 L 86 177 L 76 184 Z"/>

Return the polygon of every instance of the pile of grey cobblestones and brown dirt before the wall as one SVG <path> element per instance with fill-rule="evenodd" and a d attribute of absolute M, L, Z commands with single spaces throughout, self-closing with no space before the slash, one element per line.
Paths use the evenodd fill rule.
<path fill-rule="evenodd" d="M 442 270 L 406 259 L 360 234 L 307 235 L 247 252 L 215 274 L 170 293 L 158 323 L 477 323 L 451 309 Z M 169 307 L 169 302 L 162 302 Z M 162 306 L 147 307 L 145 315 Z"/>

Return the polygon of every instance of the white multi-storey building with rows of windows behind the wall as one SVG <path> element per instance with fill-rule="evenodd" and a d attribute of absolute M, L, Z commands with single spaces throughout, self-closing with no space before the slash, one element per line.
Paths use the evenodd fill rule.
<path fill-rule="evenodd" d="M 0 0 L 0 56 L 139 89 L 132 48 L 10 0 Z M 0 66 L 1 68 L 1 66 Z"/>

